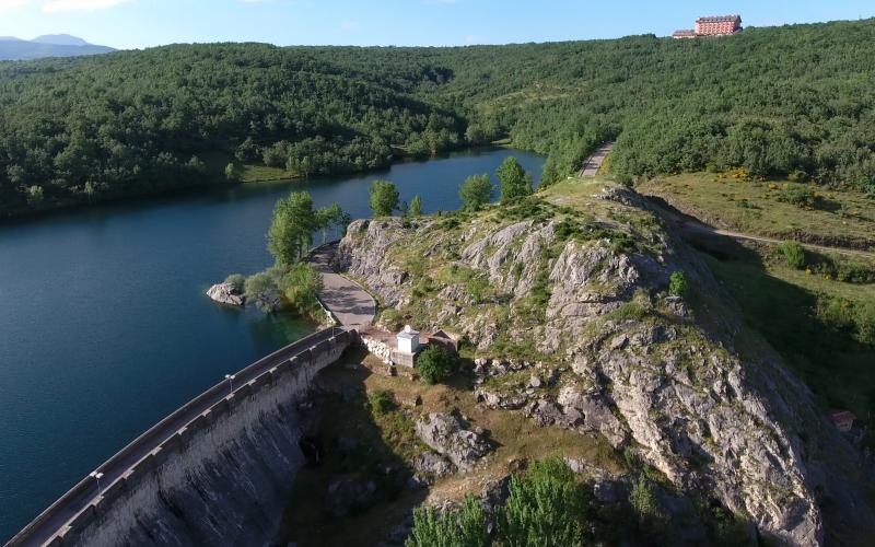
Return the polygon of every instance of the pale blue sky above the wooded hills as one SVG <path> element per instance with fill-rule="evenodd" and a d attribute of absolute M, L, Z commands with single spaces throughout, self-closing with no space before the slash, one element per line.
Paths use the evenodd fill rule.
<path fill-rule="evenodd" d="M 872 0 L 0 0 L 0 36 L 67 33 L 138 48 L 180 42 L 465 45 L 668 35 L 698 15 L 746 25 L 875 16 Z"/>

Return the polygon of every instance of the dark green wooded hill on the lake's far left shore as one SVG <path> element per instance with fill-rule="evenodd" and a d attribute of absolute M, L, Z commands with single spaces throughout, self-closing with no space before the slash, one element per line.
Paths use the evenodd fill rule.
<path fill-rule="evenodd" d="M 0 62 L 0 214 L 222 182 L 241 163 L 363 171 L 464 132 L 455 112 L 301 48 Z"/>

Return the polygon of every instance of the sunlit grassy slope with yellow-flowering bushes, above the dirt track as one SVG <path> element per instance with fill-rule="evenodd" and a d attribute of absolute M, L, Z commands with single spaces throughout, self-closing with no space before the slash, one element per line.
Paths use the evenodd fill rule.
<path fill-rule="evenodd" d="M 788 199 L 813 189 L 815 207 Z M 692 173 L 658 177 L 638 186 L 709 224 L 739 232 L 856 248 L 875 247 L 875 199 L 786 181 L 754 182 L 732 174 Z"/>

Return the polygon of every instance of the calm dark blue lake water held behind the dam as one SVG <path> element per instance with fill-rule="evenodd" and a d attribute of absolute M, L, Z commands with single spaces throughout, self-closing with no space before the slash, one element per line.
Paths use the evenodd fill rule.
<path fill-rule="evenodd" d="M 0 543 L 161 418 L 313 327 L 213 304 L 228 274 L 271 263 L 276 200 L 370 216 L 368 186 L 398 185 L 427 212 L 457 209 L 458 186 L 515 155 L 472 151 L 368 176 L 202 189 L 0 224 Z"/>

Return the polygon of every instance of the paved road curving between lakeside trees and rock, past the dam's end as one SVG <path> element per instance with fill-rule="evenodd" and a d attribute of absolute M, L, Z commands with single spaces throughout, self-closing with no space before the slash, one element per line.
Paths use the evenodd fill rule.
<path fill-rule="evenodd" d="M 323 279 L 319 300 L 342 326 L 361 329 L 374 322 L 376 302 L 361 286 L 331 268 L 331 257 L 336 251 L 337 244 L 325 245 L 311 255 L 310 260 L 322 274 Z"/>

